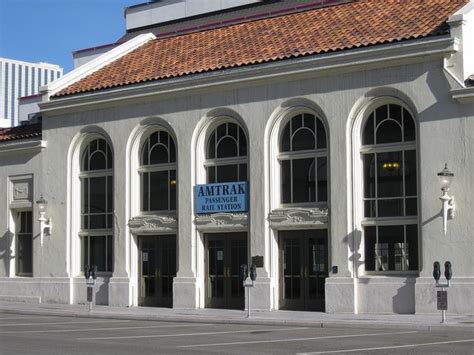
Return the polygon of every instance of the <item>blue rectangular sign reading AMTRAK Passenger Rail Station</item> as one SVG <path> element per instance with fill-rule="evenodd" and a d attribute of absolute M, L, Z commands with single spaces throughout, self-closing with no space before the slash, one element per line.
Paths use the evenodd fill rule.
<path fill-rule="evenodd" d="M 196 213 L 246 212 L 247 181 L 196 185 Z"/>

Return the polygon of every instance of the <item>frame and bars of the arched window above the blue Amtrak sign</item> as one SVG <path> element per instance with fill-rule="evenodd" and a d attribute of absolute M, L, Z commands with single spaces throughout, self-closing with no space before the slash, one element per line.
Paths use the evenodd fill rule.
<path fill-rule="evenodd" d="M 230 136 L 228 134 L 228 125 L 233 124 L 237 126 L 237 139 L 234 137 Z M 226 135 L 217 139 L 217 130 L 219 127 L 222 127 L 223 125 L 226 125 Z M 212 136 L 214 135 L 215 137 L 215 151 L 213 154 L 213 157 L 209 158 L 209 145 L 212 139 Z M 243 135 L 243 136 L 242 136 Z M 229 138 L 231 137 L 237 146 L 237 155 L 232 156 L 232 157 L 225 157 L 225 158 L 217 158 L 217 149 L 218 145 L 224 138 Z M 245 141 L 242 141 L 242 138 Z M 239 147 L 245 146 L 245 154 L 240 154 L 240 149 Z M 217 170 L 219 168 L 225 167 L 225 166 L 237 166 L 237 176 L 238 178 L 235 179 L 235 181 L 247 181 L 248 180 L 248 139 L 247 135 L 244 131 L 244 128 L 242 125 L 237 122 L 235 119 L 232 118 L 222 118 L 216 120 L 216 122 L 209 127 L 208 133 L 206 134 L 206 139 L 205 139 L 205 159 L 204 159 L 204 168 L 205 168 L 205 176 L 206 176 L 206 183 L 213 183 L 217 180 Z M 214 178 L 212 178 L 212 170 L 214 170 Z M 243 170 L 245 169 L 245 170 Z"/>

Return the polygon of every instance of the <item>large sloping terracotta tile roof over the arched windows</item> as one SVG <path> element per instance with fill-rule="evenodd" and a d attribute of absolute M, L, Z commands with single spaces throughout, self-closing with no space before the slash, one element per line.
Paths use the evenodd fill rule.
<path fill-rule="evenodd" d="M 446 34 L 468 0 L 357 0 L 147 42 L 58 96 Z"/>

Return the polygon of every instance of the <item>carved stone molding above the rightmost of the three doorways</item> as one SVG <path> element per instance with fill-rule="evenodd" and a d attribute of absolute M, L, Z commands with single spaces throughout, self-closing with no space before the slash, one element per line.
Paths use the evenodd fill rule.
<path fill-rule="evenodd" d="M 273 210 L 268 214 L 273 229 L 313 228 L 328 224 L 328 209 L 292 207 Z"/>

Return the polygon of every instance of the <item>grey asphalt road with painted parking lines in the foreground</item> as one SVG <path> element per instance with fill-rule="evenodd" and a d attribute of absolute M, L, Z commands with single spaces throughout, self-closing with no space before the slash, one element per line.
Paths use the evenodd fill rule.
<path fill-rule="evenodd" d="M 474 329 L 420 331 L 0 313 L 0 354 L 474 354 Z"/>

